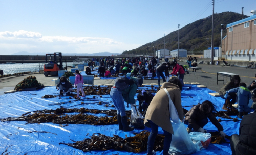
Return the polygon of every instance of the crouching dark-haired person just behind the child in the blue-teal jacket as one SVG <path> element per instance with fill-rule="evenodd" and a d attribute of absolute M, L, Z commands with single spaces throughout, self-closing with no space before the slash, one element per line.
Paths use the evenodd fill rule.
<path fill-rule="evenodd" d="M 236 93 L 228 93 L 227 95 L 227 99 L 224 97 L 224 95 L 226 94 L 226 91 L 232 89 L 232 88 L 237 88 L 240 84 L 240 77 L 239 75 L 234 75 L 232 78 L 231 78 L 231 81 L 227 82 L 225 86 L 223 86 L 221 88 L 221 90 L 219 91 L 219 94 L 220 94 L 220 97 L 225 99 L 225 102 L 226 100 L 228 100 L 230 102 L 230 104 L 234 104 L 236 102 L 236 98 L 237 98 L 237 95 Z M 231 100 L 232 99 L 232 100 Z M 227 105 L 223 105 L 222 109 L 224 110 L 228 110 Z"/>

